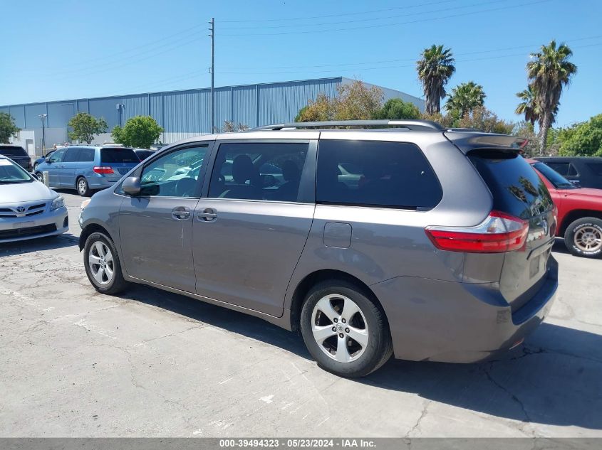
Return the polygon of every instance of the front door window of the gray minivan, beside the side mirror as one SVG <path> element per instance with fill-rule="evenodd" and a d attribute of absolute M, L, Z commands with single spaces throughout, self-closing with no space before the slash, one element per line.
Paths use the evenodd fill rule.
<path fill-rule="evenodd" d="M 194 197 L 207 146 L 187 147 L 155 159 L 142 169 L 141 195 Z"/>

